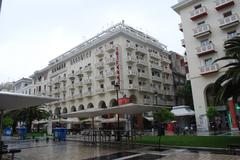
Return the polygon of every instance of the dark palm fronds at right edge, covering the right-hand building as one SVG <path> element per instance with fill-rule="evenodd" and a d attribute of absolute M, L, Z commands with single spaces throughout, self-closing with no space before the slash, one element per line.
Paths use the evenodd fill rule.
<path fill-rule="evenodd" d="M 214 63 L 218 61 L 229 62 L 220 68 L 227 69 L 227 71 L 214 84 L 215 104 L 221 103 L 221 101 L 226 102 L 231 97 L 234 102 L 237 102 L 240 96 L 240 36 L 225 41 L 224 48 L 226 56 L 214 61 Z"/>

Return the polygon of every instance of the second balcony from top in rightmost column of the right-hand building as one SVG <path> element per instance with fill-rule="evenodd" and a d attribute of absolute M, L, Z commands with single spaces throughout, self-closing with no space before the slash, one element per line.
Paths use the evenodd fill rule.
<path fill-rule="evenodd" d="M 238 14 L 233 14 L 231 16 L 222 18 L 219 20 L 219 27 L 221 29 L 227 29 L 239 24 L 239 16 Z"/>

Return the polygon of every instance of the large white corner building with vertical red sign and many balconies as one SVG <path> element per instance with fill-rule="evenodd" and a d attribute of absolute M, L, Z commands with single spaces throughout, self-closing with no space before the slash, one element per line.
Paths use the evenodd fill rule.
<path fill-rule="evenodd" d="M 137 104 L 174 106 L 167 47 L 124 22 L 56 57 L 32 76 L 32 94 L 60 98 L 56 115 L 106 108 L 128 97 Z"/>

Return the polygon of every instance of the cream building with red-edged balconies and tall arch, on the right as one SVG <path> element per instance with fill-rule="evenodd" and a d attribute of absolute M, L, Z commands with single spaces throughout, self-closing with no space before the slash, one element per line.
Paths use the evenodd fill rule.
<path fill-rule="evenodd" d="M 208 131 L 206 111 L 213 105 L 212 84 L 224 73 L 219 70 L 224 63 L 213 61 L 225 55 L 224 41 L 240 32 L 240 0 L 180 0 L 172 8 L 181 16 L 179 29 L 184 34 L 197 128 Z M 217 108 L 222 127 L 227 127 L 226 107 Z"/>

